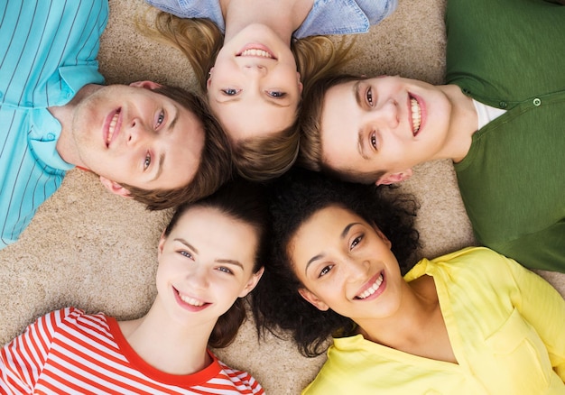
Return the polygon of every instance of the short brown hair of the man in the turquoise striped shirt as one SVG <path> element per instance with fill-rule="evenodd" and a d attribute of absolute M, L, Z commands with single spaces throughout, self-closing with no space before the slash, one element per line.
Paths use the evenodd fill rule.
<path fill-rule="evenodd" d="M 162 210 L 207 197 L 231 179 L 234 170 L 226 133 L 204 100 L 181 87 L 162 86 L 153 92 L 170 97 L 187 108 L 199 118 L 204 128 L 204 147 L 200 153 L 199 166 L 194 178 L 187 185 L 181 188 L 150 190 L 122 184 L 132 198 L 144 203 L 148 209 Z"/>

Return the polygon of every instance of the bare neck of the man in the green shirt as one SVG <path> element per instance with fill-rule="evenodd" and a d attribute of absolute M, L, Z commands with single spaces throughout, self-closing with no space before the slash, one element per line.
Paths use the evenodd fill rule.
<path fill-rule="evenodd" d="M 473 99 L 466 96 L 457 85 L 443 85 L 440 89 L 451 102 L 449 119 L 449 134 L 444 148 L 438 159 L 462 161 L 471 148 L 472 137 L 477 132 L 477 110 Z"/>

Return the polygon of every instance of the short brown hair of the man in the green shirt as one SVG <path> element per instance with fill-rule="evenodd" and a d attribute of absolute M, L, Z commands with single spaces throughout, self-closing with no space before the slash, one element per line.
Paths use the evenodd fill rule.
<path fill-rule="evenodd" d="M 304 90 L 303 105 L 299 118 L 301 149 L 297 160 L 301 167 L 322 171 L 339 179 L 363 184 L 374 183 L 384 174 L 384 172 L 359 174 L 357 171 L 352 170 L 334 170 L 324 162 L 323 147 L 321 145 L 321 114 L 324 109 L 324 98 L 331 87 L 362 79 L 366 79 L 366 77 L 336 74 L 320 78 L 312 83 L 307 90 Z"/>

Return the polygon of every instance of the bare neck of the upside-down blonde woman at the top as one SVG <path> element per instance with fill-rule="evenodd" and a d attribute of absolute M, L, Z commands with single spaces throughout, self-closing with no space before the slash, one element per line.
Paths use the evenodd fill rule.
<path fill-rule="evenodd" d="M 220 5 L 226 22 L 225 41 L 246 26 L 258 23 L 271 28 L 290 45 L 292 32 L 310 13 L 313 0 L 220 0 Z"/>

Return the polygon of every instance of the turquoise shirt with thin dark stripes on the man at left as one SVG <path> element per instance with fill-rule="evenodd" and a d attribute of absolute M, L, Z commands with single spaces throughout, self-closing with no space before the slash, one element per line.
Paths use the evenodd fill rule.
<path fill-rule="evenodd" d="M 107 0 L 0 2 L 0 249 L 73 168 L 47 107 L 104 82 L 96 57 L 107 17 Z"/>

